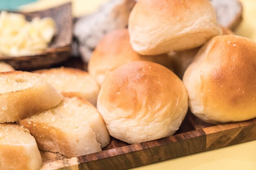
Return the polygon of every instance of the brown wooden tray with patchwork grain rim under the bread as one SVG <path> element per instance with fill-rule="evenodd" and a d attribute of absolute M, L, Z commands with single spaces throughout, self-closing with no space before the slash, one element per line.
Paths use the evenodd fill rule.
<path fill-rule="evenodd" d="M 87 68 L 78 58 L 70 59 L 61 65 L 83 70 Z M 103 151 L 71 159 L 58 153 L 41 152 L 44 162 L 41 170 L 128 169 L 254 139 L 256 118 L 213 125 L 189 112 L 180 129 L 170 137 L 132 145 L 111 138 L 110 144 L 103 148 Z"/>

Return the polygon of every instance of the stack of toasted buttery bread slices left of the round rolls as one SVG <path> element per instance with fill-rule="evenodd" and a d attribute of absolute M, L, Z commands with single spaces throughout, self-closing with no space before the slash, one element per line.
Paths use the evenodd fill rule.
<path fill-rule="evenodd" d="M 39 149 L 77 157 L 99 152 L 110 142 L 93 106 L 99 87 L 87 72 L 4 71 L 10 72 L 0 73 L 1 170 L 38 170 Z"/>

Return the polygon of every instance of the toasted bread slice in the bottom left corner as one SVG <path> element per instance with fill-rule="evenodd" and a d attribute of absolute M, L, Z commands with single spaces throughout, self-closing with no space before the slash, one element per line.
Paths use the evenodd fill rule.
<path fill-rule="evenodd" d="M 0 170 L 38 170 L 42 158 L 29 130 L 18 124 L 0 124 Z"/>

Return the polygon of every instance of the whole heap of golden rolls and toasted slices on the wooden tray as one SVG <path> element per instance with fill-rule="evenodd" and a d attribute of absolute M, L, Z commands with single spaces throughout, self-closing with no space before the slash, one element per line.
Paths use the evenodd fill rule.
<path fill-rule="evenodd" d="M 109 134 L 129 144 L 168 137 L 189 108 L 213 124 L 256 117 L 256 43 L 222 28 L 209 0 L 139 0 L 88 70 L 0 73 L 0 169 L 40 168 L 38 148 L 98 152 Z M 11 154 L 25 161 L 10 166 Z"/>

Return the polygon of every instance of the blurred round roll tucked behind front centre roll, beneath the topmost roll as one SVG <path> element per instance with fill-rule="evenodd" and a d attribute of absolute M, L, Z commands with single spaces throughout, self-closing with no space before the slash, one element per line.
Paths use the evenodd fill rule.
<path fill-rule="evenodd" d="M 97 45 L 88 63 L 89 73 L 102 85 L 110 72 L 119 66 L 132 61 L 152 61 L 172 67 L 171 58 L 167 54 L 143 56 L 132 49 L 129 33 L 126 28 L 108 33 Z"/>

